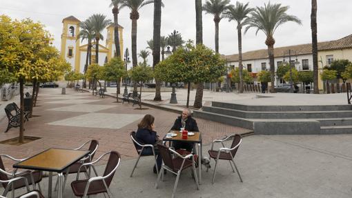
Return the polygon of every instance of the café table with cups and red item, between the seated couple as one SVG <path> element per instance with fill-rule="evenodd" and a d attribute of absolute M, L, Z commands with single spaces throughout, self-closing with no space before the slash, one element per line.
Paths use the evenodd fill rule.
<path fill-rule="evenodd" d="M 177 136 L 167 138 L 166 135 L 163 138 L 163 141 L 186 141 L 186 142 L 194 142 L 197 143 L 198 146 L 198 171 L 199 171 L 199 184 L 202 181 L 202 164 L 201 159 L 202 159 L 202 134 L 201 132 L 194 132 L 194 131 L 188 131 L 188 132 L 193 132 L 195 135 L 188 135 L 187 139 L 182 139 L 182 132 L 179 132 L 177 130 L 170 130 L 170 132 L 173 132 L 177 134 Z"/>

